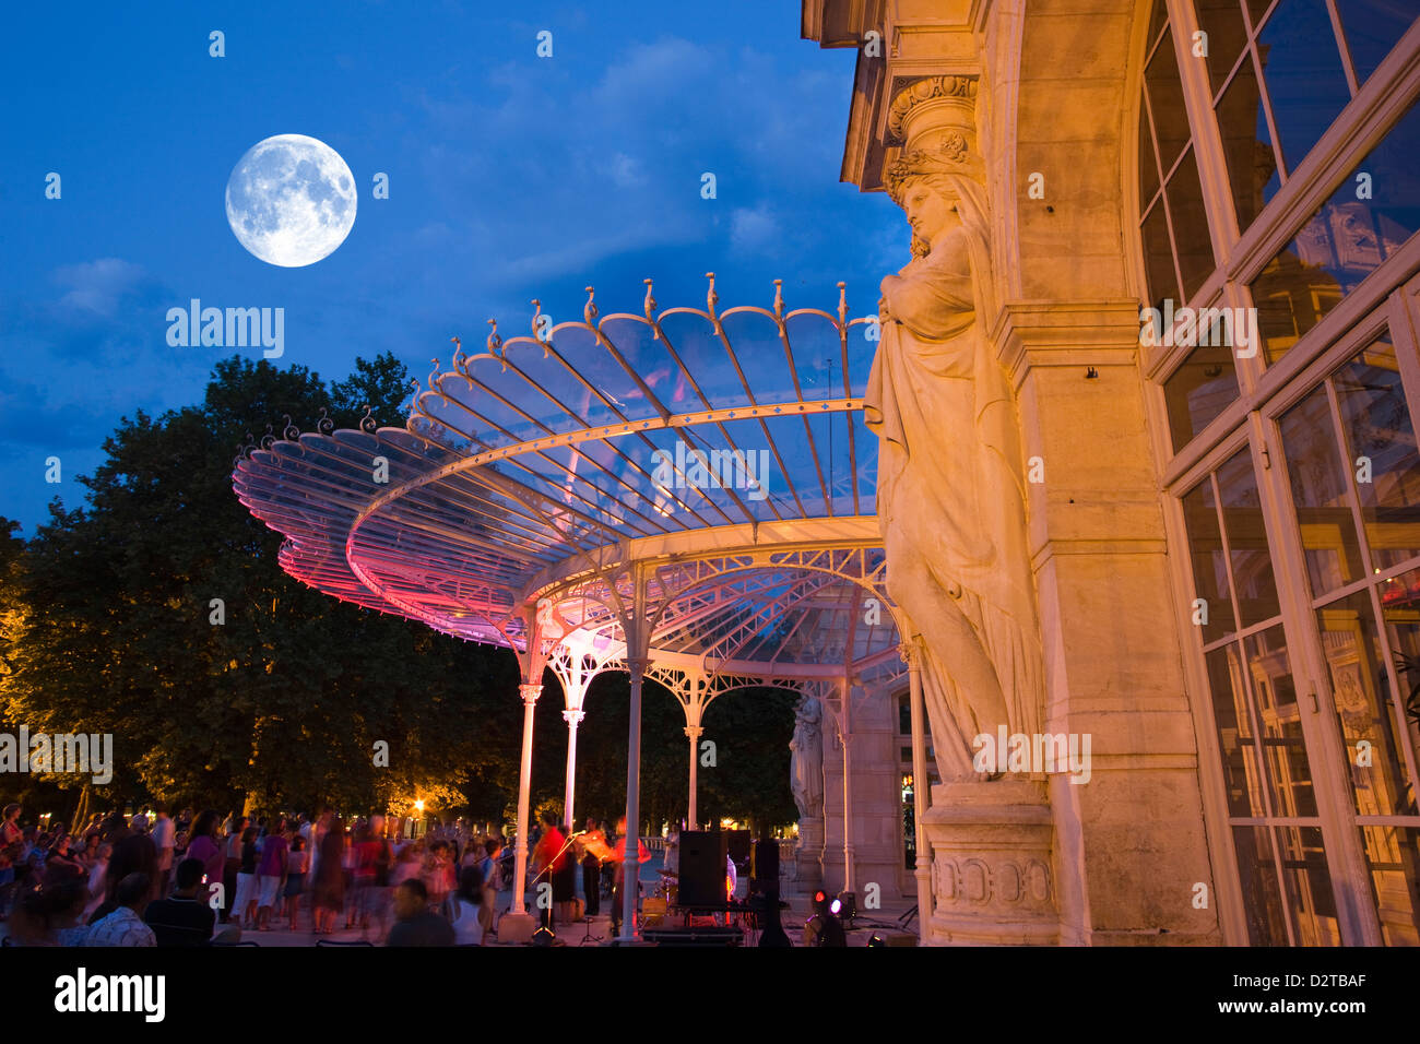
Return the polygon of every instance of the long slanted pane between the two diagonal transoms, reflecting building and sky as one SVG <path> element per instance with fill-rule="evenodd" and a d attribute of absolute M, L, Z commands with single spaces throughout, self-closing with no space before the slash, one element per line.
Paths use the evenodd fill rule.
<path fill-rule="evenodd" d="M 1252 281 L 1268 362 L 1420 229 L 1417 155 L 1420 107 L 1411 107 Z"/>

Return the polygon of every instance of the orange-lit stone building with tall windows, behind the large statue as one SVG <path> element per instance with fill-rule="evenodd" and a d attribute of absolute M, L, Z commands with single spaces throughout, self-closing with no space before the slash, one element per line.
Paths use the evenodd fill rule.
<path fill-rule="evenodd" d="M 926 936 L 1420 945 L 1413 4 L 805 0 L 802 33 L 858 51 L 843 180 L 976 163 L 1039 726 L 1089 737 L 1088 774 L 943 773 Z"/>

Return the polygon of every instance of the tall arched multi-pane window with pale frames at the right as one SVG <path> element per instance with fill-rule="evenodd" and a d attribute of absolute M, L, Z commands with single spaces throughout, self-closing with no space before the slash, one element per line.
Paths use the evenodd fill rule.
<path fill-rule="evenodd" d="M 1142 351 L 1224 932 L 1420 945 L 1420 23 L 1149 21 L 1140 298 L 1220 310 Z"/>

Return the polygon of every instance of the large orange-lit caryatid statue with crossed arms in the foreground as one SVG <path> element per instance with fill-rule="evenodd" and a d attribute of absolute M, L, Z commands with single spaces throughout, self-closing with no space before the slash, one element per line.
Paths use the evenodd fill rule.
<path fill-rule="evenodd" d="M 995 305 L 976 85 L 932 77 L 895 99 L 906 148 L 886 183 L 913 259 L 882 281 L 863 402 L 888 591 L 923 638 L 943 781 L 980 778 L 973 739 L 1001 724 L 1038 733 L 1044 706 L 1015 402 L 983 328 Z"/>

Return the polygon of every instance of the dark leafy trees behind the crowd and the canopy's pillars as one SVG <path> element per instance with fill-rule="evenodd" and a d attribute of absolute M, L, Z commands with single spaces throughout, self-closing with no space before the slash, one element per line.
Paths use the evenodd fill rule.
<path fill-rule="evenodd" d="M 503 821 L 517 798 L 523 707 L 506 649 L 341 602 L 288 577 L 281 535 L 231 490 L 251 433 L 403 418 L 409 379 L 392 355 L 344 381 L 239 357 L 202 403 L 124 418 L 80 479 L 87 504 L 50 506 L 28 541 L 0 518 L 0 726 L 112 733 L 102 804 L 151 798 L 248 811 L 430 808 Z M 270 425 L 270 429 L 267 428 Z M 537 710 L 534 804 L 562 795 L 567 727 L 551 673 Z M 726 697 L 707 737 L 701 818 L 788 822 L 792 696 Z M 605 675 L 579 733 L 578 811 L 625 804 L 626 675 Z M 687 744 L 676 702 L 646 685 L 642 808 L 683 815 Z M 388 744 L 388 767 L 376 743 Z M 14 778 L 14 777 L 11 777 Z M 55 787 L 62 784 L 62 797 Z M 9 785 L 9 781 L 7 781 Z M 21 777 L 21 794 L 78 797 L 72 777 Z M 9 795 L 6 800 L 11 800 Z"/>

